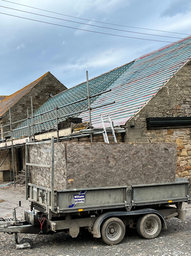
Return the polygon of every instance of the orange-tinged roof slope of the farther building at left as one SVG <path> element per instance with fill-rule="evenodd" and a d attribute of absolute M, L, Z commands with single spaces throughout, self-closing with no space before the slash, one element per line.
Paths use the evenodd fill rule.
<path fill-rule="evenodd" d="M 47 73 L 45 73 L 45 75 L 47 75 Z M 41 81 L 41 79 L 43 79 L 43 77 L 45 77 L 45 75 L 36 79 L 34 82 L 28 84 L 21 90 L 14 92 L 12 95 L 4 97 L 0 102 L 0 117 L 6 111 L 9 110 L 9 107 L 14 106 L 14 104 L 16 104 L 16 102 L 19 101 L 19 99 L 21 99 L 27 92 L 29 92 L 39 81 Z"/>

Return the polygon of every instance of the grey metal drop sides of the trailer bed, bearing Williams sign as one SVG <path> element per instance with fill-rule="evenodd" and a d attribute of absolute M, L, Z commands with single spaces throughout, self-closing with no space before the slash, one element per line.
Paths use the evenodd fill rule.
<path fill-rule="evenodd" d="M 138 206 L 176 204 L 180 201 L 190 203 L 190 184 L 181 178 L 167 184 L 54 190 L 54 200 L 51 200 L 51 193 L 48 188 L 28 184 L 28 199 L 43 213 L 49 210 L 58 214 L 115 208 L 129 211 Z"/>

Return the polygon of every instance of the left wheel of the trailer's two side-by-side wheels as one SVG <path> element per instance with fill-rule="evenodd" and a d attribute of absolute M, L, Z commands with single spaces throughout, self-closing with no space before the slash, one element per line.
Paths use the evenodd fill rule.
<path fill-rule="evenodd" d="M 105 244 L 120 244 L 125 235 L 124 223 L 115 217 L 107 219 L 102 225 L 101 233 Z"/>

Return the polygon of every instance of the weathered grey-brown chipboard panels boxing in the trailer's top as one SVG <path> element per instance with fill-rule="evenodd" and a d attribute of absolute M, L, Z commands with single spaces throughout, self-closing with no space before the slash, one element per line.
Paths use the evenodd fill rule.
<path fill-rule="evenodd" d="M 56 190 L 175 181 L 177 144 L 56 143 Z M 51 164 L 50 144 L 30 146 L 30 163 Z M 49 168 L 30 167 L 31 182 L 51 187 Z"/>

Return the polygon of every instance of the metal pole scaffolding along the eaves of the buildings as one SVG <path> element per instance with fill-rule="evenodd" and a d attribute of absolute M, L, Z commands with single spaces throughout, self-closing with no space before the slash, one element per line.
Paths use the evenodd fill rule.
<path fill-rule="evenodd" d="M 0 138 L 1 138 L 1 143 L 0 143 L 0 150 L 5 150 L 9 149 L 10 153 L 10 166 L 11 166 L 11 161 L 12 161 L 12 172 L 13 172 L 13 178 L 14 178 L 14 186 L 16 185 L 15 182 L 15 170 L 14 170 L 14 149 L 15 148 L 23 148 L 26 143 L 26 139 L 28 141 L 36 141 L 36 133 L 39 129 L 39 126 L 42 126 L 43 124 L 50 123 L 52 126 L 54 126 L 54 132 L 56 132 L 56 140 L 58 141 L 65 141 L 69 139 L 80 139 L 84 137 L 90 137 L 91 142 L 93 141 L 93 136 L 94 135 L 104 135 L 104 130 L 103 128 L 93 128 L 92 123 L 91 123 L 91 111 L 95 110 L 97 108 L 102 108 L 104 106 L 109 106 L 111 104 L 115 104 L 115 101 L 108 102 L 107 104 L 102 104 L 99 106 L 91 107 L 90 99 L 93 97 L 98 97 L 106 92 L 110 92 L 111 89 L 105 90 L 104 92 L 99 92 L 95 95 L 89 95 L 89 83 L 88 83 L 88 73 L 87 73 L 87 97 L 84 97 L 82 99 L 79 99 L 78 101 L 73 101 L 69 104 L 65 104 L 63 106 L 57 106 L 56 108 L 52 108 L 51 110 L 47 110 L 45 112 L 41 112 L 40 114 L 34 115 L 34 110 L 33 110 L 33 103 L 32 103 L 32 97 L 31 97 L 31 115 L 29 115 L 29 110 L 27 108 L 27 118 L 21 119 L 19 121 L 12 121 L 12 115 L 11 115 L 11 108 L 9 107 L 9 124 L 5 124 L 0 126 Z M 67 112 L 65 115 L 59 115 L 58 110 L 62 110 L 66 108 L 67 106 L 71 106 L 73 104 L 78 104 L 82 101 L 87 101 L 88 103 L 88 108 L 81 109 L 78 111 L 74 112 Z M 59 134 L 59 124 L 61 121 L 67 119 L 67 117 L 76 117 L 76 115 L 82 113 L 82 112 L 89 112 L 89 124 L 90 127 L 87 130 L 79 130 L 79 132 L 76 132 L 74 134 L 69 134 L 67 136 L 60 136 Z M 54 113 L 54 115 L 49 115 L 49 113 Z M 47 118 L 47 116 L 51 116 L 50 118 Z M 41 121 L 38 121 L 38 117 L 41 117 Z M 43 119 L 44 117 L 44 119 Z M 16 128 L 13 128 L 16 127 Z M 3 131 L 5 129 L 5 131 Z M 23 139 L 16 138 L 16 132 L 20 131 L 21 133 L 23 132 Z M 113 127 L 107 128 L 108 133 L 113 132 Z M 115 128 L 115 133 L 122 133 L 126 132 L 124 128 Z M 45 133 L 45 132 L 43 132 Z M 49 138 L 47 138 L 49 139 Z M 4 160 L 5 161 L 5 160 Z M 3 162 L 4 162 L 3 161 Z M 2 163 L 3 164 L 3 163 Z M 1 165 L 2 165 L 1 164 Z M 0 166 L 1 167 L 1 166 Z M 11 167 L 10 167 L 11 171 Z"/>

